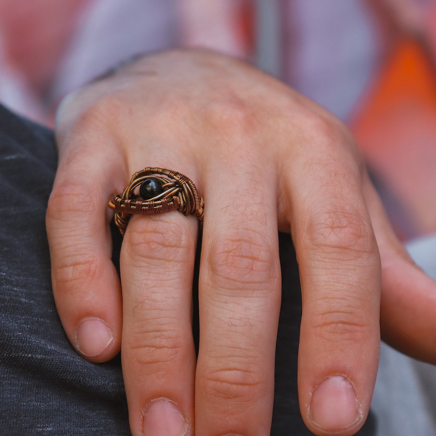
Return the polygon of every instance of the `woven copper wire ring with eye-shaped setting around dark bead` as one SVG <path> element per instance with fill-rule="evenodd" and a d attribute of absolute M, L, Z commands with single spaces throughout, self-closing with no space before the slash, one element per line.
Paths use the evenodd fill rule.
<path fill-rule="evenodd" d="M 144 199 L 139 194 L 140 185 L 150 181 L 162 191 L 153 198 Z M 178 210 L 184 215 L 196 215 L 200 226 L 203 225 L 204 201 L 194 182 L 184 174 L 165 168 L 146 167 L 133 174 L 123 194 L 112 198 L 108 206 L 115 211 L 114 221 L 122 235 L 134 214 L 164 214 Z"/>

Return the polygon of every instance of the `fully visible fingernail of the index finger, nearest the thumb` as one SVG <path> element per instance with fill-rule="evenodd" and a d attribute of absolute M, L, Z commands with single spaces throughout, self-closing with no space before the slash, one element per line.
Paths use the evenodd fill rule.
<path fill-rule="evenodd" d="M 361 411 L 350 381 L 341 375 L 324 380 L 312 395 L 310 420 L 326 432 L 346 429 L 361 419 Z"/>

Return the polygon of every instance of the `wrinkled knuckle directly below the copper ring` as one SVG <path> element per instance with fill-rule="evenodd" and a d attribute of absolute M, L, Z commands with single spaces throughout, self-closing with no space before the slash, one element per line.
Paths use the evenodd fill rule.
<path fill-rule="evenodd" d="M 126 251 L 133 262 L 164 260 L 171 264 L 192 260 L 194 244 L 190 243 L 190 232 L 181 221 L 176 223 L 171 218 L 154 216 L 135 224 L 126 232 Z"/>

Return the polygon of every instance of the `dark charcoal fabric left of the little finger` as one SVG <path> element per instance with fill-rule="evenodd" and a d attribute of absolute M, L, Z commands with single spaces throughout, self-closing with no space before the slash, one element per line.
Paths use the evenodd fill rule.
<path fill-rule="evenodd" d="M 56 165 L 51 131 L 0 106 L 0 434 L 127 436 L 119 357 L 82 359 L 54 306 L 45 209 Z"/>

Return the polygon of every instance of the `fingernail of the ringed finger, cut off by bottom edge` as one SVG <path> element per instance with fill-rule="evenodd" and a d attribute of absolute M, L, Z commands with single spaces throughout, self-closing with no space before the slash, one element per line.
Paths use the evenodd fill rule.
<path fill-rule="evenodd" d="M 184 436 L 188 425 L 176 403 L 166 398 L 152 400 L 143 411 L 143 436 Z"/>

